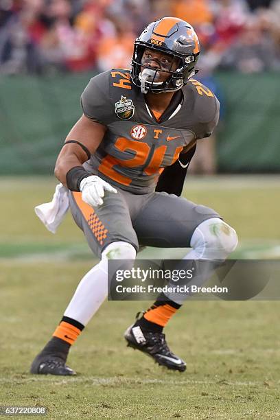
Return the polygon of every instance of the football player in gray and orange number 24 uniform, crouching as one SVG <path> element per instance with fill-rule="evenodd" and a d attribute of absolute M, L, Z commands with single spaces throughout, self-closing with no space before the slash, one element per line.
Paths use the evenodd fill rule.
<path fill-rule="evenodd" d="M 135 40 L 130 71 L 101 73 L 82 93 L 83 115 L 55 174 L 69 189 L 73 218 L 100 262 L 80 281 L 31 373 L 75 374 L 67 355 L 106 299 L 108 259 L 133 261 L 139 245 L 191 247 L 187 260 L 225 259 L 235 249 L 235 230 L 216 211 L 180 197 L 196 141 L 218 123 L 218 100 L 193 79 L 199 53 L 191 25 L 165 17 Z M 185 371 L 163 334 L 182 303 L 161 294 L 128 327 L 128 345 Z"/>

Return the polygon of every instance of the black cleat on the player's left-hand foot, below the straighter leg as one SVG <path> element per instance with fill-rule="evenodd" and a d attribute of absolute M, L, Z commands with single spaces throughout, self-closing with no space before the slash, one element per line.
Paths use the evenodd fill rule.
<path fill-rule="evenodd" d="M 39 353 L 34 359 L 30 373 L 36 375 L 75 375 L 75 371 L 65 364 L 65 360 L 57 355 Z"/>

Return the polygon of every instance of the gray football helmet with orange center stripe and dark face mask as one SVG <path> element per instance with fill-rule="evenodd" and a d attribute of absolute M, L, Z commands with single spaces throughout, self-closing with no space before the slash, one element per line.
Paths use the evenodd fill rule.
<path fill-rule="evenodd" d="M 159 62 L 151 51 L 164 53 L 170 60 Z M 142 93 L 178 91 L 196 73 L 199 54 L 198 36 L 189 23 L 174 17 L 152 22 L 135 40 L 132 82 Z"/>

